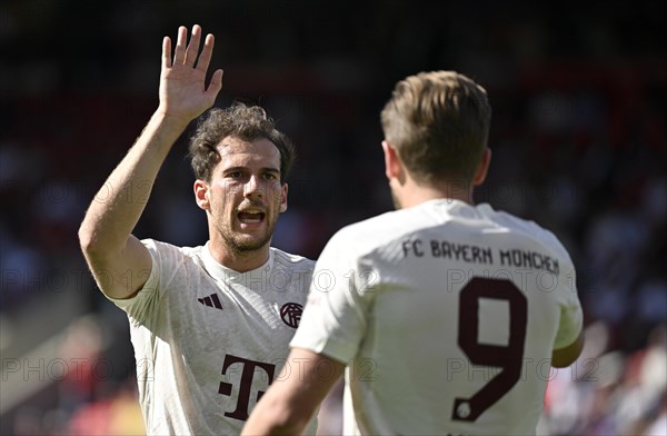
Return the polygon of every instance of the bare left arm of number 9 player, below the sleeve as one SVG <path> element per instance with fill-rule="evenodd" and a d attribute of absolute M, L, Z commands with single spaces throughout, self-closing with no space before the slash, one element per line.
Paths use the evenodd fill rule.
<path fill-rule="evenodd" d="M 345 365 L 338 360 L 292 348 L 280 376 L 250 414 L 241 435 L 302 434 L 344 370 Z"/>

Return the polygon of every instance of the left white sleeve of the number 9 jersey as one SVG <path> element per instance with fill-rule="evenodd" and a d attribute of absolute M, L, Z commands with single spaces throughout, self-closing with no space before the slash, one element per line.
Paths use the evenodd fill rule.
<path fill-rule="evenodd" d="M 354 241 L 331 238 L 315 266 L 306 308 L 290 346 L 347 363 L 365 336 L 377 276 L 351 252 Z"/>

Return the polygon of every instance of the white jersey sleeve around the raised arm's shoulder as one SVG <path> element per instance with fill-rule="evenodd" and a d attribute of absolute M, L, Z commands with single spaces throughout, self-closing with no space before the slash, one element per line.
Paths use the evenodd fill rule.
<path fill-rule="evenodd" d="M 143 287 L 132 298 L 118 299 L 107 297 L 116 306 L 125 310 L 131 319 L 138 323 L 147 320 L 152 309 L 159 305 L 161 285 L 168 280 L 168 278 L 163 277 L 165 272 L 176 270 L 177 256 L 171 251 L 178 251 L 176 247 L 173 247 L 173 250 L 170 250 L 169 245 L 158 242 L 153 239 L 142 239 L 141 244 L 148 249 L 152 260 L 146 284 L 143 284 Z"/>

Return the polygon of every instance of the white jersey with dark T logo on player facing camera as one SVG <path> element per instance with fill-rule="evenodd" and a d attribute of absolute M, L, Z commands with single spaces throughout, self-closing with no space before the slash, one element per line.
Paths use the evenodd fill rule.
<path fill-rule="evenodd" d="M 208 244 L 142 242 L 148 281 L 112 301 L 130 321 L 147 434 L 239 434 L 286 361 L 315 262 L 271 248 L 263 266 L 241 274 Z"/>

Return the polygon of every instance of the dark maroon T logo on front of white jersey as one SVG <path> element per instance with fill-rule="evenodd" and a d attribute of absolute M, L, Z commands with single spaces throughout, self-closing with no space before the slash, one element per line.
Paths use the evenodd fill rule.
<path fill-rule="evenodd" d="M 226 412 L 225 416 L 229 416 L 230 418 L 236 418 L 240 420 L 248 419 L 248 407 L 250 405 L 250 390 L 252 389 L 252 378 L 255 376 L 255 371 L 259 368 L 267 373 L 269 376 L 269 385 L 273 382 L 273 374 L 276 373 L 276 365 L 267 364 L 266 361 L 257 361 L 245 359 L 242 357 L 226 355 L 225 361 L 222 363 L 222 375 L 227 374 L 227 369 L 230 365 L 241 364 L 243 366 L 243 370 L 241 371 L 241 383 L 239 386 L 239 397 L 237 399 L 237 407 L 233 412 Z M 218 388 L 218 394 L 222 394 L 226 396 L 231 395 L 233 385 L 231 383 L 220 382 L 220 387 Z M 263 395 L 263 390 L 258 390 L 257 400 Z"/>

